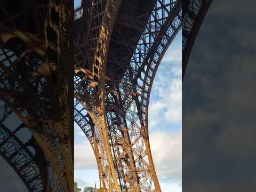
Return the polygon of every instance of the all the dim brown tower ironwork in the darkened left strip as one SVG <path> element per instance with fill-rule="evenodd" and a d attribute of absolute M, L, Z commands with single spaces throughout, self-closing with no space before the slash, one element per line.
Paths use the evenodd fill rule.
<path fill-rule="evenodd" d="M 73 22 L 72 2 L 0 3 L 0 99 L 5 106 L 2 109 L 10 108 L 21 120 L 17 130 L 27 127 L 36 152 L 31 153 L 28 143 L 22 143 L 16 132 L 3 124 L 0 149 L 29 191 L 74 189 L 74 123 L 68 110 L 68 103 L 73 105 L 73 84 L 69 83 L 73 81 L 70 69 L 74 67 L 69 65 L 74 59 L 69 54 L 73 47 L 69 26 Z M 38 151 L 49 166 L 38 164 Z"/>

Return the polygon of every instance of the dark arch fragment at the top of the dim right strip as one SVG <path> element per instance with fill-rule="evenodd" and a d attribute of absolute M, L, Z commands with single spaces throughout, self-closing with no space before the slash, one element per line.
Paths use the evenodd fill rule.
<path fill-rule="evenodd" d="M 182 81 L 199 28 L 213 0 L 182 2 Z"/>

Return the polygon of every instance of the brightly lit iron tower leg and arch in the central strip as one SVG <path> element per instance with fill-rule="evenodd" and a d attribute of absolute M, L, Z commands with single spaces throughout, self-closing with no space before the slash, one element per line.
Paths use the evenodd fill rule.
<path fill-rule="evenodd" d="M 161 191 L 150 151 L 151 86 L 181 29 L 181 1 L 82 1 L 75 10 L 75 122 L 103 191 Z"/>

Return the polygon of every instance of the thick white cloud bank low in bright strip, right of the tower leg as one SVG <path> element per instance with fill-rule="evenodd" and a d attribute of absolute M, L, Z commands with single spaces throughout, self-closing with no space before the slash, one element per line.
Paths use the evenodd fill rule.
<path fill-rule="evenodd" d="M 179 180 L 182 169 L 182 137 L 178 133 L 153 132 L 149 134 L 151 153 L 159 180 Z"/>

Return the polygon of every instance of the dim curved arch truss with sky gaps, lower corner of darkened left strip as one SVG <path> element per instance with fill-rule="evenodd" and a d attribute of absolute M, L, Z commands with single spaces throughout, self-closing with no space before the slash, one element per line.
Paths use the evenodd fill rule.
<path fill-rule="evenodd" d="M 2 100 L 0 102 L 1 156 L 19 175 L 28 191 L 61 191 L 60 182 L 49 169 L 50 163 L 35 139 L 31 136 L 26 142 L 20 139 L 20 135 L 26 133 L 27 127 Z"/>

